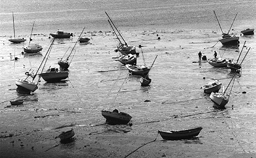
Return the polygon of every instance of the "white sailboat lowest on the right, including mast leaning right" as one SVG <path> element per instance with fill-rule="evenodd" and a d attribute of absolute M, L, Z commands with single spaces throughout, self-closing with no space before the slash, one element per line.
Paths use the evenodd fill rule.
<path fill-rule="evenodd" d="M 249 48 L 249 50 L 250 50 L 250 48 Z M 249 52 L 249 50 L 247 51 L 247 53 Z M 246 53 L 246 55 L 247 55 L 247 53 Z M 245 55 L 245 57 L 246 57 L 246 55 Z M 245 57 L 243 59 L 245 59 Z M 242 62 L 243 62 L 243 60 L 242 60 Z M 242 64 L 242 62 L 240 63 L 240 65 Z M 233 84 L 232 84 L 232 88 L 230 89 L 229 96 L 226 96 L 225 93 L 226 93 L 228 87 L 230 86 L 230 83 L 232 83 L 232 80 L 234 79 L 234 76 L 236 76 L 236 74 L 237 74 L 237 71 L 234 72 L 234 75 L 232 76 L 232 79 L 230 80 L 230 82 L 229 82 L 229 84 L 226 87 L 224 92 L 221 92 L 221 93 L 212 92 L 212 93 L 210 93 L 210 100 L 213 101 L 214 106 L 216 108 L 224 109 L 225 105 L 228 104 L 230 93 L 231 93 L 233 85 L 234 85 L 234 81 L 233 81 Z"/>

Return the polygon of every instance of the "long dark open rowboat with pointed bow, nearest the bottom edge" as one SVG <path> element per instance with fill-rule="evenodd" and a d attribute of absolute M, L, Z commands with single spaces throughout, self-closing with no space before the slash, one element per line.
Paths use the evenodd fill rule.
<path fill-rule="evenodd" d="M 194 129 L 181 130 L 181 131 L 160 131 L 158 133 L 166 140 L 180 140 L 189 139 L 199 135 L 203 127 L 197 127 Z"/>

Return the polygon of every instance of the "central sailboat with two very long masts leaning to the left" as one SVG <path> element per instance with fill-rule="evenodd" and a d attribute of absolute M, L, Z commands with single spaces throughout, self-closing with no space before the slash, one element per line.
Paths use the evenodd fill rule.
<path fill-rule="evenodd" d="M 105 11 L 106 13 L 106 11 Z M 115 34 L 117 36 L 117 39 L 119 40 L 119 46 L 117 48 L 118 52 L 120 52 L 121 54 L 137 54 L 136 53 L 136 47 L 134 45 L 128 45 L 126 43 L 126 41 L 123 39 L 121 33 L 118 31 L 117 27 L 115 26 L 115 24 L 112 22 L 112 20 L 110 19 L 109 15 L 106 13 L 106 15 L 108 16 L 109 20 L 110 20 L 110 25 L 114 25 L 115 30 L 118 32 L 118 35 L 121 37 L 121 39 L 123 40 L 123 42 L 119 39 L 119 37 L 117 36 L 117 34 Z M 112 27 L 113 28 L 113 27 Z M 114 29 L 113 29 L 114 31 Z M 115 32 L 115 31 L 114 31 Z"/>

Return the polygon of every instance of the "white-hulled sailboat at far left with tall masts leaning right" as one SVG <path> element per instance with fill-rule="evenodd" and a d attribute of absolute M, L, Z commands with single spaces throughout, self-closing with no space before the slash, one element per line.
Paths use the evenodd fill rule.
<path fill-rule="evenodd" d="M 27 77 L 25 79 L 16 79 L 16 86 L 18 87 L 16 89 L 17 92 L 20 93 L 31 93 L 31 92 L 35 92 L 36 89 L 38 89 L 38 83 L 40 82 L 40 76 L 38 78 L 38 82 L 35 83 L 35 78 L 39 72 L 40 67 L 43 65 L 43 62 L 46 60 L 47 58 L 47 54 L 49 53 L 49 50 L 51 49 L 51 46 L 53 45 L 55 39 L 52 40 L 51 45 L 49 46 L 49 49 L 46 53 L 46 55 L 44 55 L 44 58 L 42 60 L 42 62 L 40 63 L 40 66 L 38 67 L 38 70 L 36 70 L 35 74 L 33 74 L 32 72 L 26 72 L 25 74 L 27 75 Z M 29 80 L 28 78 L 32 78 L 32 80 Z"/>

